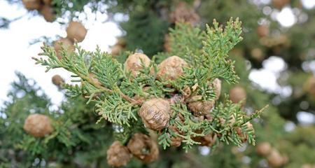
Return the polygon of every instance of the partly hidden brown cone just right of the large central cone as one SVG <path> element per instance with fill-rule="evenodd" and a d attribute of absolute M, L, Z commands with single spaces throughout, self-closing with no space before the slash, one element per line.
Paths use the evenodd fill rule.
<path fill-rule="evenodd" d="M 211 109 L 214 108 L 214 101 L 197 101 L 190 102 L 188 104 L 188 109 L 193 111 L 194 116 L 204 116 L 211 112 Z"/>

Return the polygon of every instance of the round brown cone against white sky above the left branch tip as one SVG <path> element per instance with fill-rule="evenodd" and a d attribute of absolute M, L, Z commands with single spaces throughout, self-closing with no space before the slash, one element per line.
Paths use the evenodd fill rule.
<path fill-rule="evenodd" d="M 76 39 L 76 41 L 81 42 L 87 34 L 87 29 L 85 29 L 82 23 L 72 21 L 69 23 L 68 27 L 66 27 L 66 34 L 67 38 L 71 41 L 74 42 L 74 39 Z"/>

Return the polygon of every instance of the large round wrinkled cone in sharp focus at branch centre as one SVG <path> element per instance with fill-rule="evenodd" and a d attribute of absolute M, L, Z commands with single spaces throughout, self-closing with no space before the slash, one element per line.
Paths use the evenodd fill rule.
<path fill-rule="evenodd" d="M 167 127 L 171 112 L 172 109 L 167 100 L 154 98 L 144 102 L 138 114 L 148 129 L 160 131 Z"/>

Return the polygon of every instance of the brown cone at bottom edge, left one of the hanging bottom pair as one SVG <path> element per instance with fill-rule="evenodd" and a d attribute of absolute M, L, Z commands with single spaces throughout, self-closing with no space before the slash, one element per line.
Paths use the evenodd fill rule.
<path fill-rule="evenodd" d="M 107 163 L 113 167 L 121 167 L 127 165 L 132 158 L 126 146 L 120 144 L 119 141 L 114 141 L 107 150 Z"/>

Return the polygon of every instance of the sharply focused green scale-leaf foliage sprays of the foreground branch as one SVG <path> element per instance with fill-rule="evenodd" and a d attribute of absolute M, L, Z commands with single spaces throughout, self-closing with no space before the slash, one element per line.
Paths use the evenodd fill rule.
<path fill-rule="evenodd" d="M 75 77 L 79 77 L 78 81 L 80 86 L 75 85 L 71 87 L 66 85 L 68 92 L 73 92 L 74 95 L 78 94 L 79 90 L 82 90 L 82 94 L 89 94 L 89 102 L 95 102 L 97 113 L 102 118 L 108 120 L 111 123 L 115 123 L 118 127 L 123 128 L 123 134 L 130 134 L 129 130 L 133 129 L 138 124 L 139 116 L 137 111 L 142 102 L 133 99 L 135 95 L 139 95 L 144 99 L 149 97 L 145 96 L 142 88 L 144 86 L 150 87 L 147 93 L 155 97 L 170 97 L 174 89 L 167 87 L 167 85 L 173 85 L 177 90 L 183 90 L 184 86 L 193 87 L 196 83 L 197 89 L 193 94 L 201 94 L 202 100 L 210 101 L 214 100 L 214 90 L 209 86 L 209 81 L 212 82 L 214 78 L 223 78 L 228 83 L 235 83 L 237 81 L 237 75 L 233 68 L 233 62 L 227 60 L 228 51 L 231 50 L 236 43 L 241 41 L 241 23 L 232 19 L 227 23 L 224 31 L 223 28 L 218 27 L 218 23 L 214 21 L 214 28 L 207 28 L 207 33 L 200 32 L 195 29 L 195 33 L 185 34 L 185 31 L 193 29 L 190 25 L 179 25 L 174 29 L 172 36 L 173 41 L 178 41 L 176 45 L 192 53 L 193 57 L 190 60 L 193 62 L 191 66 L 184 69 L 184 74 L 175 81 L 160 82 L 156 80 L 156 73 L 158 71 L 155 62 L 151 62 L 148 67 L 143 67 L 139 76 L 134 78 L 130 73 L 125 72 L 123 64 L 118 63 L 106 52 L 101 52 L 97 49 L 95 52 L 86 52 L 76 45 L 78 52 L 67 53 L 62 51 L 62 59 L 56 57 L 55 51 L 49 46 L 44 46 L 43 52 L 40 54 L 45 58 L 34 58 L 36 64 L 46 66 L 47 71 L 54 68 L 62 67 L 71 73 L 75 74 Z M 190 41 L 185 41 L 184 36 L 189 36 Z M 196 38 L 196 39 L 194 39 Z M 200 41 L 202 40 L 202 41 Z M 189 44 L 192 41 L 199 41 L 200 45 L 193 45 L 191 48 Z M 174 46 L 176 48 L 176 46 Z M 174 53 L 176 54 L 176 53 Z M 181 54 L 181 52 L 179 52 Z M 89 61 L 85 62 L 85 57 L 89 55 Z M 176 54 L 177 55 L 177 54 Z M 187 55 L 186 57 L 187 58 Z M 188 59 L 189 62 L 189 59 Z M 152 71 L 153 69 L 153 71 Z M 95 77 L 101 85 L 97 84 L 90 75 L 90 72 L 95 74 Z M 97 95 L 98 94 L 98 95 Z M 97 97 L 94 99 L 94 96 Z M 227 144 L 232 142 L 233 144 L 240 146 L 241 137 L 237 135 L 236 128 L 239 127 L 243 136 L 247 136 L 249 143 L 254 144 L 253 130 L 248 128 L 245 123 L 254 117 L 259 116 L 261 111 L 253 113 L 252 116 L 246 116 L 246 113 L 241 111 L 241 104 L 232 104 L 230 101 L 226 101 L 224 104 L 218 104 L 216 108 L 211 112 L 211 116 L 214 116 L 214 121 L 199 121 L 188 111 L 186 105 L 176 104 L 172 106 L 173 117 L 169 121 L 169 125 L 176 125 L 176 127 L 183 132 L 181 134 L 174 134 L 172 130 L 165 128 L 159 137 L 160 144 L 169 146 L 170 138 L 179 136 L 183 138 L 183 148 L 188 150 L 194 144 L 200 144 L 193 140 L 193 137 L 204 136 L 209 132 L 215 132 L 220 134 L 220 141 L 224 141 Z M 184 118 L 183 123 L 176 119 L 176 116 L 182 116 Z M 228 120 L 232 116 L 235 117 L 234 125 L 223 124 L 220 120 Z M 141 126 L 144 128 L 144 125 Z M 118 129 L 119 130 L 119 129 Z M 202 130 L 202 133 L 196 133 L 198 130 Z M 171 134 L 172 136 L 169 136 Z M 127 136 L 128 137 L 128 136 Z M 125 140 L 123 140 L 125 142 Z"/>

